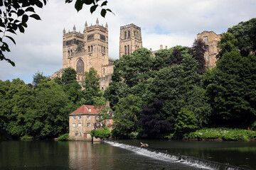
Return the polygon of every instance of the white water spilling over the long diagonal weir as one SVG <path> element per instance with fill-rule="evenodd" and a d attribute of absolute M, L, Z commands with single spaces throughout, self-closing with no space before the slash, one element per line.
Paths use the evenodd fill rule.
<path fill-rule="evenodd" d="M 151 157 L 154 159 L 159 159 L 161 161 L 166 161 L 170 163 L 179 163 L 179 164 L 187 164 L 188 166 L 196 166 L 200 169 L 219 169 L 219 170 L 247 170 L 245 168 L 241 168 L 238 166 L 232 166 L 228 164 L 221 164 L 219 162 L 212 162 L 206 159 L 199 159 L 196 157 L 190 157 L 180 154 L 172 154 L 169 152 L 163 152 L 156 149 L 150 148 L 142 148 L 135 147 L 132 145 L 126 145 L 119 142 L 113 142 L 109 140 L 105 140 L 105 143 L 112 145 L 114 147 L 120 147 L 122 149 L 128 149 L 132 152 L 136 152 L 137 154 L 142 154 L 146 157 Z"/>

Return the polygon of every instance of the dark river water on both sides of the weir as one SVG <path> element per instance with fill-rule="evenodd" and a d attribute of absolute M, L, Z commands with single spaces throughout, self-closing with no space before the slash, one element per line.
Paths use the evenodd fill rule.
<path fill-rule="evenodd" d="M 124 147 L 107 142 L 9 141 L 0 144 L 0 169 L 206 169 L 196 164 L 137 152 L 149 147 L 176 154 L 256 169 L 256 142 L 169 142 L 122 140 Z"/>

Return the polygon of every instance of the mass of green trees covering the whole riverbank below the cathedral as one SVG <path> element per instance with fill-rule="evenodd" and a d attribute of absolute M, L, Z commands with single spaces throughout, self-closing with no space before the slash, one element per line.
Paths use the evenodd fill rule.
<path fill-rule="evenodd" d="M 8 120 L 1 128 L 14 138 L 58 137 L 68 132 L 72 111 L 108 100 L 114 111 L 112 137 L 250 140 L 256 130 L 255 28 L 253 18 L 223 33 L 211 70 L 204 67 L 206 44 L 195 40 L 192 47 L 177 45 L 155 56 L 141 48 L 115 60 L 105 91 L 93 68 L 85 73 L 83 90 L 71 68 L 54 80 L 38 72 L 33 85 L 0 81 L 5 91 L 0 115 Z"/>

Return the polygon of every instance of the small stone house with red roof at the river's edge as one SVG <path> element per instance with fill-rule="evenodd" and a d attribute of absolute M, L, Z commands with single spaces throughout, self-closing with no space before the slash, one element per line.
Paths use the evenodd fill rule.
<path fill-rule="evenodd" d="M 104 107 L 104 106 L 103 106 Z M 95 106 L 83 105 L 69 115 L 69 137 L 74 140 L 92 140 L 90 131 L 94 129 L 102 129 L 103 125 L 112 130 L 112 116 L 105 122 L 100 122 L 99 108 Z"/>

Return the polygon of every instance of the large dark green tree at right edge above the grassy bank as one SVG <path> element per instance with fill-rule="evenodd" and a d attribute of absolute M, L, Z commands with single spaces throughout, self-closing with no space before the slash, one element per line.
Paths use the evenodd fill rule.
<path fill-rule="evenodd" d="M 210 117 L 213 124 L 247 127 L 256 120 L 255 73 L 256 57 L 242 57 L 235 50 L 224 53 L 213 75 L 206 74 L 206 95 L 213 108 Z"/>

